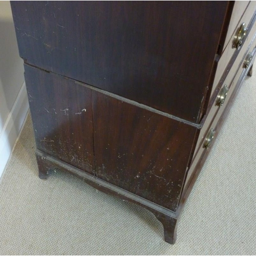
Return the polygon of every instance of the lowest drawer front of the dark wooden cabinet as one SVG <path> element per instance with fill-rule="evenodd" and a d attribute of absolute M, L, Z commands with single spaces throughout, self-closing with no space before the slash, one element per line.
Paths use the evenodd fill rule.
<path fill-rule="evenodd" d="M 206 151 L 209 151 L 212 146 L 210 144 L 209 148 L 205 147 L 206 137 L 209 135 L 209 132 L 211 131 L 211 129 L 216 131 L 216 134 L 214 135 L 214 138 L 212 139 L 212 144 L 214 143 L 214 140 L 216 139 L 216 136 L 218 135 L 218 132 L 221 128 L 221 124 L 224 121 L 224 118 L 226 117 L 226 115 L 231 107 L 231 104 L 234 101 L 234 98 L 235 98 L 244 78 L 246 77 L 246 74 L 248 73 L 248 71 L 250 69 L 252 62 L 254 61 L 255 54 L 256 54 L 256 47 L 254 44 L 251 45 L 249 51 L 246 54 L 246 57 L 248 56 L 249 52 L 252 54 L 251 55 L 252 58 L 251 58 L 251 61 L 248 65 L 248 67 L 245 68 L 244 65 L 242 65 L 240 67 L 238 74 L 234 77 L 233 81 L 229 84 L 229 91 L 226 96 L 226 99 L 225 99 L 223 105 L 221 106 L 221 108 L 218 109 L 214 120 L 212 120 L 210 125 L 208 125 L 209 122 L 207 122 L 206 123 L 207 129 L 203 128 L 203 130 L 201 131 L 202 133 L 200 135 L 200 146 L 198 146 L 197 152 L 195 152 L 195 155 L 194 155 L 195 157 L 188 169 L 186 181 L 185 181 L 185 185 L 184 185 L 184 191 L 186 190 L 186 185 L 189 184 L 190 177 L 197 171 L 197 168 L 196 168 L 197 164 L 199 163 L 199 161 L 201 160 L 203 155 L 206 153 Z"/>

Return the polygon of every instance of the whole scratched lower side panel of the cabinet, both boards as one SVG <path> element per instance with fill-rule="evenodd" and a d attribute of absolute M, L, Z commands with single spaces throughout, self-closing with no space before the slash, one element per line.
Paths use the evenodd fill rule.
<path fill-rule="evenodd" d="M 25 77 L 38 150 L 176 209 L 196 127 L 28 65 Z"/>

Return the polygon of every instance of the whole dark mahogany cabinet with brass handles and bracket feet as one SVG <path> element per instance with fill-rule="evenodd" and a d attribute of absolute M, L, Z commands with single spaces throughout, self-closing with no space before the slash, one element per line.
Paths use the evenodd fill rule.
<path fill-rule="evenodd" d="M 177 220 L 255 56 L 255 2 L 11 2 L 39 177 Z"/>

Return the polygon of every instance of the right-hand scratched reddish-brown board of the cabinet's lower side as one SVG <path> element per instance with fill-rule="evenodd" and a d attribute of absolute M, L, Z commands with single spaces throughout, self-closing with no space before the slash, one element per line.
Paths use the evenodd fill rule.
<path fill-rule="evenodd" d="M 197 128 L 92 95 L 97 177 L 175 210 Z"/>

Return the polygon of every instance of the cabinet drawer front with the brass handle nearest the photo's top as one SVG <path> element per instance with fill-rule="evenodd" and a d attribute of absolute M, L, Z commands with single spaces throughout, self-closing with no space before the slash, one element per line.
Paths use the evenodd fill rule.
<path fill-rule="evenodd" d="M 239 3 L 241 3 L 241 2 L 239 1 Z M 236 30 L 232 33 L 231 39 L 229 40 L 226 48 L 224 49 L 224 52 L 223 52 L 220 60 L 218 61 L 218 67 L 217 67 L 217 71 L 215 74 L 214 83 L 213 83 L 212 89 L 211 89 L 211 96 L 214 94 L 214 92 L 216 90 L 218 90 L 219 84 L 221 84 L 221 81 L 223 79 L 222 77 L 225 77 L 225 75 L 227 74 L 229 69 L 233 65 L 237 65 L 237 68 L 239 67 L 239 62 L 240 62 L 239 60 L 236 62 L 236 64 L 234 64 L 233 62 L 234 62 L 234 59 L 236 59 L 238 57 L 236 54 L 238 54 L 239 56 L 243 56 L 243 54 L 247 50 L 248 45 L 250 44 L 251 38 L 255 34 L 255 30 L 256 30 L 255 23 L 254 23 L 255 22 L 254 19 L 255 19 L 255 15 L 256 15 L 255 10 L 256 10 L 256 1 L 251 1 L 249 3 L 248 8 L 246 9 L 243 17 L 241 18 L 241 22 L 236 27 Z M 234 38 L 238 34 L 238 31 L 239 31 L 242 23 L 246 24 L 246 26 L 248 28 L 248 32 L 247 32 L 243 46 L 241 47 L 240 50 L 237 50 L 234 47 Z M 242 54 L 240 54 L 240 52 L 238 53 L 238 51 L 242 52 Z"/>

